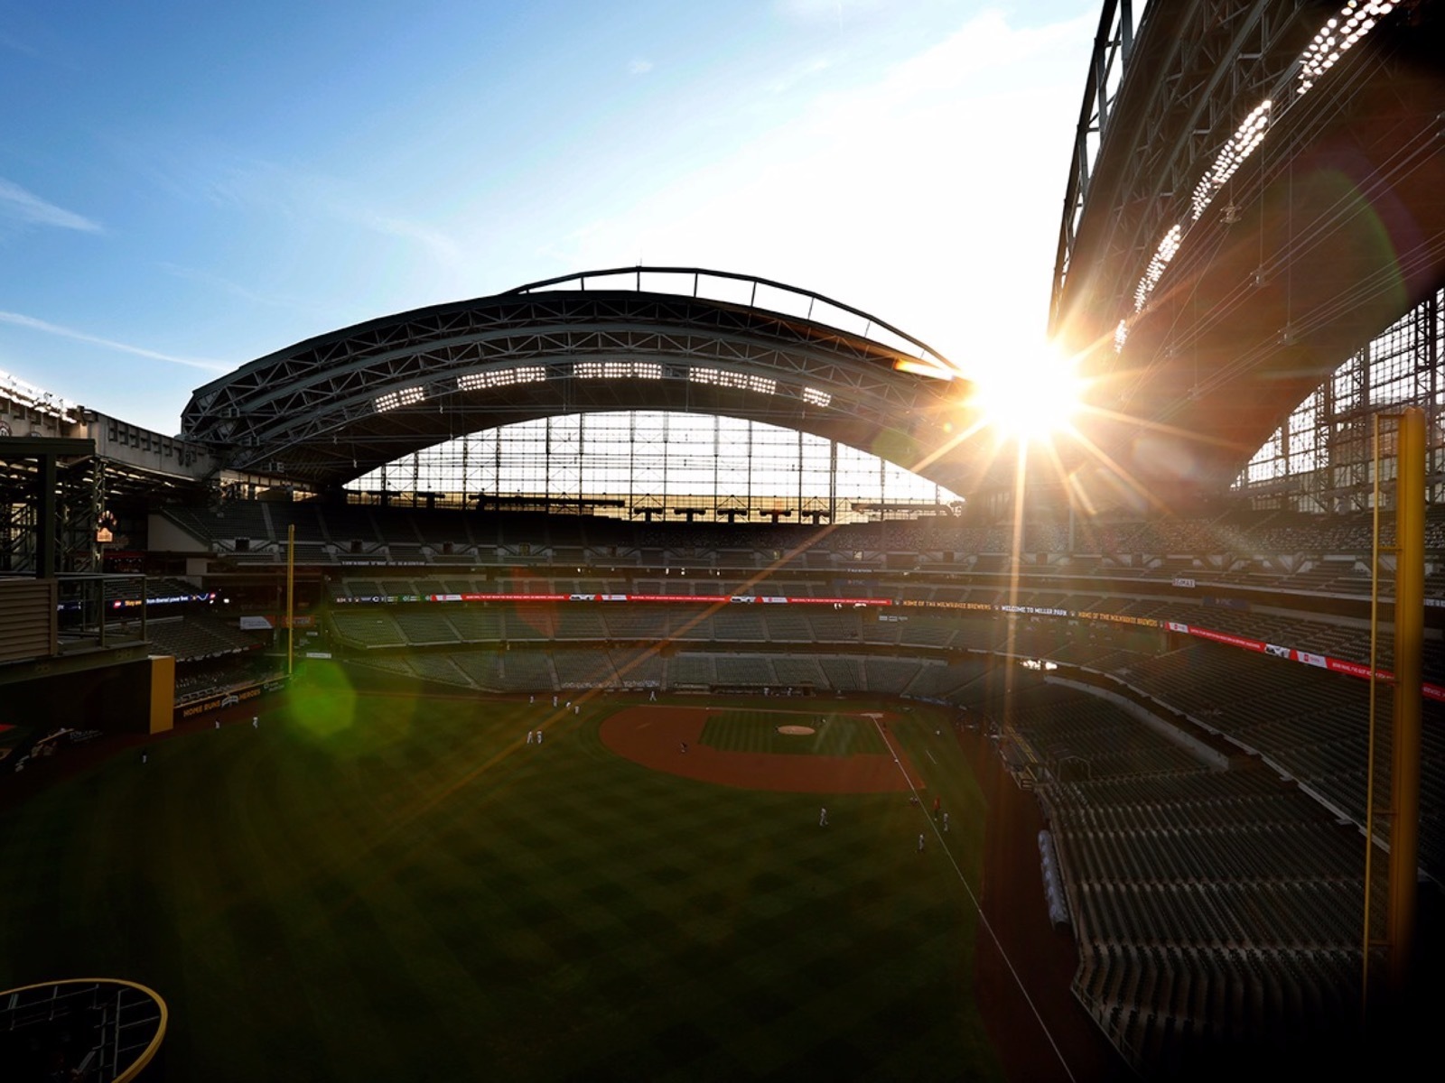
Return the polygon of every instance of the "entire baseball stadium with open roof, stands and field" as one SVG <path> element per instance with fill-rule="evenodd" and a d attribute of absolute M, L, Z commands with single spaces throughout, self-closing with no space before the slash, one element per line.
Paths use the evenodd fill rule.
<path fill-rule="evenodd" d="M 1068 375 L 639 263 L 0 380 L 0 1077 L 1428 1073 L 1445 4 L 1140 9 Z"/>

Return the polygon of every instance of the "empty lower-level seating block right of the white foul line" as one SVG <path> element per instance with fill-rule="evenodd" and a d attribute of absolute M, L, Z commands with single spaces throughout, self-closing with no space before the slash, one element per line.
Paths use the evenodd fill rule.
<path fill-rule="evenodd" d="M 1033 699 L 1004 744 L 1052 825 L 1075 993 L 1134 1067 L 1351 1025 L 1358 835 L 1247 761 L 1215 770 L 1082 693 Z"/>

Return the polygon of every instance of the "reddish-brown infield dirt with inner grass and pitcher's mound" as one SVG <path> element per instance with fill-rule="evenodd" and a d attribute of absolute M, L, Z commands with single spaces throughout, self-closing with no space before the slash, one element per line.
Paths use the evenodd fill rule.
<path fill-rule="evenodd" d="M 923 781 L 894 744 L 894 715 L 649 703 L 601 725 L 611 751 L 655 771 L 746 790 L 894 793 Z"/>

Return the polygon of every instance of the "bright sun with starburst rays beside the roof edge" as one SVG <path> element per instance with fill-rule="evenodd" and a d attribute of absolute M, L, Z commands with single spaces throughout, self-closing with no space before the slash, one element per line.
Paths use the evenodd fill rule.
<path fill-rule="evenodd" d="M 970 373 L 970 406 L 1000 440 L 1045 443 L 1072 429 L 1084 380 L 1072 358 L 1052 347 L 997 351 Z"/>

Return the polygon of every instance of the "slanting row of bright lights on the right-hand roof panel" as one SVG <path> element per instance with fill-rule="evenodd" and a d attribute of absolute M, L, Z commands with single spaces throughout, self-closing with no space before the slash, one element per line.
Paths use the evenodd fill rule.
<path fill-rule="evenodd" d="M 1335 66 L 1340 58 L 1370 33 L 1380 19 L 1394 10 L 1396 6 L 1394 0 L 1380 0 L 1379 3 L 1374 0 L 1368 0 L 1367 3 L 1348 0 L 1337 16 L 1325 20 L 1325 25 L 1315 32 L 1314 39 L 1299 56 L 1299 78 L 1295 88 L 1296 98 L 1305 95 L 1315 85 L 1316 79 Z M 1264 134 L 1272 120 L 1272 108 L 1273 101 L 1269 98 L 1256 105 L 1215 156 L 1214 165 L 1209 166 L 1208 172 L 1199 179 L 1199 183 L 1195 185 L 1194 193 L 1189 198 L 1191 221 L 1199 221 L 1209 204 L 1214 202 L 1214 198 L 1230 182 L 1230 178 L 1234 176 L 1244 160 L 1264 142 Z M 1136 315 L 1144 310 L 1144 305 L 1149 303 L 1155 286 L 1159 284 L 1165 269 L 1168 269 L 1169 261 L 1179 251 L 1182 241 L 1183 225 L 1176 222 L 1163 235 L 1163 240 L 1159 241 L 1153 258 L 1149 260 L 1149 266 L 1139 280 L 1139 286 L 1134 287 Z M 1114 329 L 1114 352 L 1123 351 L 1127 341 L 1129 319 L 1124 318 L 1118 321 L 1118 326 Z"/>

